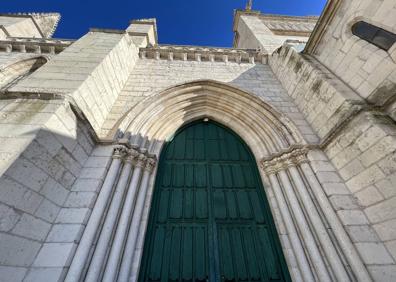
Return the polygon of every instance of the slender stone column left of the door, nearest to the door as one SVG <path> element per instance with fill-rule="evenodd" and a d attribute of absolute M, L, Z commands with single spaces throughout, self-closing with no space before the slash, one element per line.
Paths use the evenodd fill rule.
<path fill-rule="evenodd" d="M 155 167 L 156 161 L 148 159 L 144 167 L 143 179 L 140 184 L 138 198 L 136 200 L 135 210 L 133 212 L 132 223 L 129 228 L 128 238 L 124 249 L 124 256 L 122 258 L 121 268 L 118 276 L 118 281 L 127 282 L 130 279 L 130 271 L 132 269 L 132 261 L 135 254 L 135 246 L 140 230 L 140 221 L 144 209 L 144 203 L 147 195 L 147 188 L 150 180 L 150 175 Z"/>

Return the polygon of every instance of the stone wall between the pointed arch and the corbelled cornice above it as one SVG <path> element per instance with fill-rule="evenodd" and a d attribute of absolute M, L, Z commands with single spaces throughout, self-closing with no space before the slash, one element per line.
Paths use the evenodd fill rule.
<path fill-rule="evenodd" d="M 204 79 L 226 82 L 257 95 L 279 112 L 286 114 L 308 142 L 317 142 L 316 135 L 268 65 L 155 59 L 138 60 L 104 123 L 102 134 L 108 133 L 128 110 L 143 99 L 171 86 Z"/>

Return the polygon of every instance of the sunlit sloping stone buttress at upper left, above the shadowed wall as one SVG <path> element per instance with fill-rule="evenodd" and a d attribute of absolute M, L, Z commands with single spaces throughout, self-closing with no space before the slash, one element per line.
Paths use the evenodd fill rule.
<path fill-rule="evenodd" d="M 89 32 L 9 92 L 71 97 L 99 132 L 137 53 L 124 32 Z"/>

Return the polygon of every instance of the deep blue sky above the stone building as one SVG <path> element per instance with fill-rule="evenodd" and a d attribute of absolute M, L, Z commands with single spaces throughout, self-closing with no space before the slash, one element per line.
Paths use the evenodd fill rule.
<path fill-rule="evenodd" d="M 59 12 L 55 37 L 79 38 L 90 27 L 125 29 L 131 19 L 157 18 L 162 44 L 232 45 L 234 9 L 246 0 L 3 0 L 1 12 Z M 263 13 L 319 15 L 326 0 L 255 0 Z"/>

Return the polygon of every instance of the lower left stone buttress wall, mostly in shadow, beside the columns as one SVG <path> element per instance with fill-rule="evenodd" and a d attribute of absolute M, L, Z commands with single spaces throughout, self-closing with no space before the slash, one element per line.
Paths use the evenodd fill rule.
<path fill-rule="evenodd" d="M 0 277 L 22 281 L 46 267 L 62 275 L 76 247 L 73 235 L 95 199 L 95 193 L 71 192 L 73 184 L 81 174 L 94 178 L 103 171 L 83 169 L 95 141 L 63 102 L 12 101 L 0 111 Z M 67 203 L 72 196 L 78 207 Z M 69 228 L 59 229 L 62 223 Z"/>

